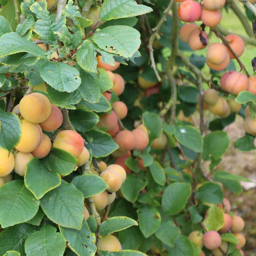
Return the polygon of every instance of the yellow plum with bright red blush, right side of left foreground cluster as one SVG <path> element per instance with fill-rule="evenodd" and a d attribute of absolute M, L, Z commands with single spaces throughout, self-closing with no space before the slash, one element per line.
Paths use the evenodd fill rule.
<path fill-rule="evenodd" d="M 62 130 L 57 134 L 53 143 L 54 148 L 67 151 L 73 157 L 79 157 L 85 146 L 82 136 L 73 130 Z"/>

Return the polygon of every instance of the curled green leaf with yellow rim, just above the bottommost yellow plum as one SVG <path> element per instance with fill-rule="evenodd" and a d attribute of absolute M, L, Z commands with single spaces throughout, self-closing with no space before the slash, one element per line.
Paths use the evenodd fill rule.
<path fill-rule="evenodd" d="M 128 227 L 134 225 L 138 226 L 138 223 L 132 218 L 124 216 L 112 217 L 101 223 L 101 227 L 99 227 L 99 233 L 102 236 L 107 236 L 108 234 L 127 229 Z"/>

